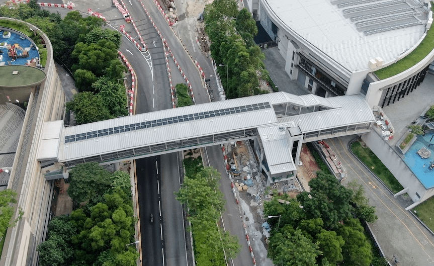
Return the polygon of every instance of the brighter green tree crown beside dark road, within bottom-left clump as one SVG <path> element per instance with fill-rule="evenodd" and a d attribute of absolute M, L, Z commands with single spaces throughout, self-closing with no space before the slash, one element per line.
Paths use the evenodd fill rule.
<path fill-rule="evenodd" d="M 134 211 L 130 197 L 121 188 L 104 195 L 104 203 L 92 206 L 89 214 L 82 209 L 72 212 L 71 220 L 79 234 L 72 238 L 78 247 L 75 258 L 86 263 L 104 261 L 103 265 L 132 265 L 128 261 L 137 259 L 138 254 L 127 244 L 134 241 Z M 106 253 L 104 253 L 106 252 Z M 131 256 L 127 259 L 125 256 Z"/>

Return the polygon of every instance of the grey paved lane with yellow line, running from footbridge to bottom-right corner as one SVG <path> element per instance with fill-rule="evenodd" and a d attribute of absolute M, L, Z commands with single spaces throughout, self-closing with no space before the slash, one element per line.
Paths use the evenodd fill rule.
<path fill-rule="evenodd" d="M 385 256 L 390 260 L 394 255 L 398 265 L 434 265 L 434 240 L 431 233 L 408 212 L 409 201 L 404 196 L 393 197 L 356 157 L 347 144 L 354 136 L 328 139 L 332 148 L 348 172 L 344 185 L 352 180 L 362 184 L 370 205 L 376 207 L 378 220 L 370 223 Z"/>

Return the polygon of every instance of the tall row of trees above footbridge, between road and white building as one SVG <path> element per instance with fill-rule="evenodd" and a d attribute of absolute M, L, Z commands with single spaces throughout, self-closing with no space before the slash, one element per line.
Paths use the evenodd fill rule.
<path fill-rule="evenodd" d="M 253 41 L 257 27 L 250 12 L 238 12 L 235 0 L 214 0 L 205 8 L 204 21 L 212 57 L 217 65 L 227 65 L 227 69 L 218 68 L 226 97 L 267 93 L 259 87 L 259 78 L 269 82 L 271 78 L 263 63 L 265 56 Z"/>

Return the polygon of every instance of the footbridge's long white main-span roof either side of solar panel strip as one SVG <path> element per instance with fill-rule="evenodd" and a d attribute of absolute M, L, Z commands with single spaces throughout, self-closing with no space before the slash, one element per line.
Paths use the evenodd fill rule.
<path fill-rule="evenodd" d="M 245 99 L 234 99 L 209 104 L 200 104 L 189 107 L 176 109 L 167 109 L 157 112 L 139 114 L 129 117 L 115 118 L 90 124 L 84 124 L 74 127 L 64 128 L 60 136 L 59 161 L 68 161 L 76 158 L 89 157 L 103 153 L 109 153 L 119 150 L 140 147 L 144 144 L 152 145 L 165 143 L 168 141 L 177 141 L 192 137 L 208 136 L 228 131 L 241 129 L 256 128 L 266 124 L 277 123 L 276 115 L 273 108 L 264 98 L 254 98 L 258 105 L 266 103 L 261 109 L 246 112 L 236 112 L 236 107 L 245 106 Z M 255 104 L 250 104 L 255 105 Z M 142 123 L 158 121 L 173 117 L 184 117 L 192 114 L 201 114 L 215 110 L 230 110 L 234 108 L 233 113 L 205 117 L 202 119 L 190 119 L 183 122 L 167 123 L 165 125 L 147 126 L 145 128 L 124 131 L 122 133 L 105 134 L 104 130 L 122 127 L 127 125 L 143 125 Z M 215 114 L 214 114 L 215 115 Z M 163 123 L 161 121 L 161 123 Z M 137 128 L 137 126 L 135 127 Z M 115 129 L 116 130 L 116 129 Z M 67 141 L 68 136 L 78 136 L 87 132 L 97 132 L 96 137 L 85 140 L 74 138 L 74 141 Z M 99 133 L 101 131 L 101 133 Z M 109 131 L 106 131 L 109 132 Z M 101 136 L 100 136 L 101 134 Z M 41 156 L 43 156 L 41 154 Z M 42 157 L 41 157 L 42 158 Z"/>

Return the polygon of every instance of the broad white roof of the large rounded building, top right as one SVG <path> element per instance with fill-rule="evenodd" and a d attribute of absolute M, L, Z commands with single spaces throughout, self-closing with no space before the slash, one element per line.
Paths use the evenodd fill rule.
<path fill-rule="evenodd" d="M 394 61 L 403 51 L 410 49 L 415 45 L 425 32 L 425 23 L 427 20 L 427 8 L 416 7 L 416 12 L 424 12 L 422 15 L 413 15 L 406 17 L 412 18 L 412 22 L 404 21 L 405 19 L 396 18 L 392 20 L 391 16 L 404 14 L 404 11 L 396 11 L 402 7 L 411 9 L 412 6 L 420 4 L 416 1 L 406 0 L 399 3 L 394 1 L 380 0 L 375 1 L 328 1 L 328 0 L 265 0 L 272 10 L 270 16 L 277 21 L 280 20 L 284 30 L 294 31 L 299 37 L 316 47 L 326 55 L 331 57 L 335 62 L 350 72 L 367 70 L 368 62 L 371 59 L 381 57 L 384 63 Z M 345 3 L 363 3 L 355 6 L 345 6 Z M 333 4 L 334 3 L 334 4 Z M 343 3 L 343 5 L 342 5 Z M 338 5 L 342 5 L 340 8 Z M 387 15 L 378 15 L 378 8 L 372 6 L 365 12 L 349 12 L 353 8 L 361 6 L 386 5 L 381 11 Z M 396 10 L 395 10 L 396 8 Z M 358 19 L 356 14 L 364 14 L 372 19 Z M 410 14 L 411 15 L 411 14 Z M 361 17 L 361 16 L 359 16 Z M 379 24 L 373 19 L 388 19 L 388 24 Z M 354 21 L 352 21 L 354 20 Z M 398 28 L 394 30 L 381 31 L 379 33 L 367 34 L 367 26 L 361 27 L 360 22 L 369 21 L 379 28 Z M 413 23 L 417 22 L 417 23 Z M 399 28 L 399 26 L 413 23 L 411 27 Z M 368 30 L 375 30 L 370 27 Z"/>

